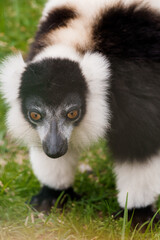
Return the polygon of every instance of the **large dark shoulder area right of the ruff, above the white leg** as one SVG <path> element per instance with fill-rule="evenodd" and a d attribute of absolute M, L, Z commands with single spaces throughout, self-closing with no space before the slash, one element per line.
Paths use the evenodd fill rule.
<path fill-rule="evenodd" d="M 146 160 L 160 149 L 160 63 L 111 63 L 110 149 L 118 160 Z"/>

